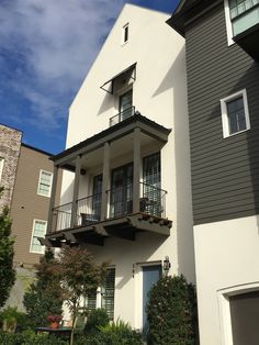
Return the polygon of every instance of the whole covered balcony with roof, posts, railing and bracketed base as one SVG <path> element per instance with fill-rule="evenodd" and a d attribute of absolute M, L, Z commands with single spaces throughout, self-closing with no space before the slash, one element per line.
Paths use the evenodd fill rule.
<path fill-rule="evenodd" d="M 160 152 L 169 133 L 132 110 L 111 127 L 52 157 L 55 168 L 45 244 L 103 245 L 111 236 L 134 241 L 138 232 L 169 236 L 167 192 L 159 179 L 147 183 L 142 167 L 146 157 L 142 152 Z M 58 169 L 72 171 L 75 178 L 71 202 L 55 205 Z M 101 177 L 95 180 L 98 192 L 93 192 L 93 177 Z"/>

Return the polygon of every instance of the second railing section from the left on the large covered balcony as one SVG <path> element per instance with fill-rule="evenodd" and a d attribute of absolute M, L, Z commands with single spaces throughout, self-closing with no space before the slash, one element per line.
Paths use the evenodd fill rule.
<path fill-rule="evenodd" d="M 100 221 L 102 194 L 93 194 L 77 201 L 77 225 L 90 225 Z"/>

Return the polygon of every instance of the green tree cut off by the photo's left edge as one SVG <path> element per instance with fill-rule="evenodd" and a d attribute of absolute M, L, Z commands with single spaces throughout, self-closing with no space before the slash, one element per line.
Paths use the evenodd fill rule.
<path fill-rule="evenodd" d="M 3 188 L 0 188 L 0 198 Z M 12 221 L 9 208 L 4 207 L 0 214 L 0 308 L 9 298 L 15 281 L 15 269 L 13 268 L 14 240 L 11 237 Z"/>

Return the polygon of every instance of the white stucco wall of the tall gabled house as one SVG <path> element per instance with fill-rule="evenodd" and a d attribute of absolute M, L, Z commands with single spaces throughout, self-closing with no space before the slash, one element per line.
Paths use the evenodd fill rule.
<path fill-rule="evenodd" d="M 161 148 L 161 188 L 168 191 L 166 207 L 167 216 L 173 221 L 171 235 L 166 238 L 143 233 L 135 242 L 109 238 L 103 247 L 89 245 L 98 259 L 111 259 L 115 265 L 115 319 L 120 316 L 135 327 L 142 326 L 142 265 L 137 263 L 161 261 L 168 255 L 170 274 L 183 274 L 195 280 L 184 40 L 165 23 L 168 18 L 126 4 L 69 111 L 67 147 L 108 129 L 109 119 L 117 113 L 117 97 L 100 86 L 137 63 L 133 104 L 142 115 L 172 130 Z M 126 23 L 130 40 L 122 45 Z M 71 201 L 72 179 L 72 174 L 64 174 L 64 203 Z M 86 190 L 87 180 L 82 177 L 80 197 Z"/>

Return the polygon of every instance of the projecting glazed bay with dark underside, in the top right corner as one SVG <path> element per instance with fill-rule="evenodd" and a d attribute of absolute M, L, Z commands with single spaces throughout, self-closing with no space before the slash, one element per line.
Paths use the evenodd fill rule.
<path fill-rule="evenodd" d="M 245 0 L 233 8 L 230 5 L 230 20 L 233 40 L 259 62 L 259 1 Z"/>

